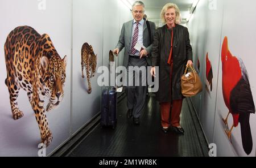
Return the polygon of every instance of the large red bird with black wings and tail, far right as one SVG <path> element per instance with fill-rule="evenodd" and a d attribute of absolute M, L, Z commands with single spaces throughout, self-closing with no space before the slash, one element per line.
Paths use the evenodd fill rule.
<path fill-rule="evenodd" d="M 230 130 L 225 130 L 231 140 L 231 132 L 240 123 L 242 145 L 246 154 L 250 154 L 253 148 L 251 137 L 250 114 L 255 113 L 253 96 L 251 94 L 248 74 L 240 58 L 234 57 L 228 49 L 228 38 L 225 37 L 221 49 L 222 62 L 222 93 L 229 109 L 229 114 L 233 117 L 233 126 Z M 222 119 L 228 127 L 228 116 Z"/>

